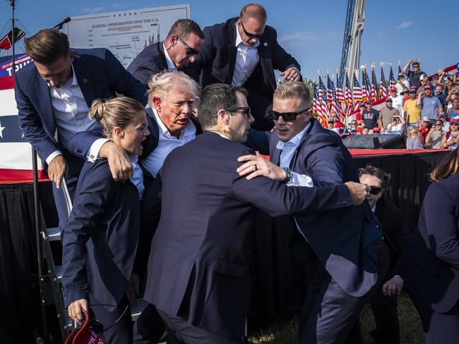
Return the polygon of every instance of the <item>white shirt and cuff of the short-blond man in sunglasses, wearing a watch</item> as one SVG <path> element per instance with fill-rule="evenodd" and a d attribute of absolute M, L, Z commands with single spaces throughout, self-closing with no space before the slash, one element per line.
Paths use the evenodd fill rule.
<path fill-rule="evenodd" d="M 304 134 L 306 133 L 306 131 L 309 129 L 310 126 L 311 126 L 311 123 L 308 123 L 308 125 L 306 125 L 306 128 L 304 128 L 299 134 L 292 137 L 289 141 L 287 142 L 279 141 L 278 142 L 278 145 L 276 146 L 276 148 L 282 150 L 282 152 L 280 153 L 280 161 L 279 161 L 280 167 L 290 167 L 290 161 L 292 160 L 295 152 L 297 151 L 297 148 L 302 142 Z M 306 176 L 305 174 L 299 174 L 299 173 L 293 172 L 292 179 L 290 179 L 287 185 L 289 186 L 307 186 L 311 188 L 314 186 L 314 183 L 312 182 L 311 177 Z"/>

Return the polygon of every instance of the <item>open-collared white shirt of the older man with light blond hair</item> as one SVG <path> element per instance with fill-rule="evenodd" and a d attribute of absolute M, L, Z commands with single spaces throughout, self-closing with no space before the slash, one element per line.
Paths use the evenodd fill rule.
<path fill-rule="evenodd" d="M 156 177 L 157 171 L 160 171 L 162 164 L 166 159 L 167 154 L 172 152 L 172 149 L 185 145 L 187 142 L 194 140 L 196 137 L 196 127 L 193 122 L 189 121 L 184 130 L 181 130 L 180 138 L 170 135 L 164 123 L 162 123 L 160 116 L 156 113 L 155 108 L 152 107 L 153 113 L 158 125 L 159 137 L 157 147 L 150 153 L 143 161 L 142 166 L 153 177 Z"/>

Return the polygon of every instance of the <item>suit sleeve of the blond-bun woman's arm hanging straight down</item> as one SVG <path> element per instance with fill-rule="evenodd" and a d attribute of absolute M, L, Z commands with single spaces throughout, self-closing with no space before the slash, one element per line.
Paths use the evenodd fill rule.
<path fill-rule="evenodd" d="M 112 176 L 104 176 L 97 169 L 83 176 L 81 190 L 75 197 L 70 219 L 62 233 L 62 285 L 66 307 L 76 300 L 88 300 L 86 242 L 97 230 L 105 205 L 113 198 L 116 188 Z"/>

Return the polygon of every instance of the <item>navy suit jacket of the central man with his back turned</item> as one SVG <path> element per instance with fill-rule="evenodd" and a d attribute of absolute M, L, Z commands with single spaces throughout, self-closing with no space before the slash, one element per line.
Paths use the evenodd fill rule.
<path fill-rule="evenodd" d="M 280 216 L 352 204 L 345 185 L 287 188 L 265 177 L 239 177 L 237 158 L 250 153 L 205 131 L 167 156 L 144 295 L 167 314 L 234 339 L 244 332 L 249 307 L 248 234 L 255 207 Z"/>

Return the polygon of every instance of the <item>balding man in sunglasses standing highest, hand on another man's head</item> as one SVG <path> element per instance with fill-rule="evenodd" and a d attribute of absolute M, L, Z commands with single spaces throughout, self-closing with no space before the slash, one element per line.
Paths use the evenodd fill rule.
<path fill-rule="evenodd" d="M 266 11 L 258 4 L 242 8 L 237 18 L 205 27 L 204 44 L 190 66 L 201 86 L 224 83 L 244 87 L 255 122 L 252 128 L 270 130 L 266 110 L 273 103 L 274 70 L 285 80 L 301 80 L 300 66 L 278 43 L 274 27 L 266 25 Z"/>

